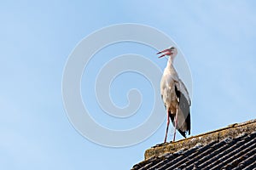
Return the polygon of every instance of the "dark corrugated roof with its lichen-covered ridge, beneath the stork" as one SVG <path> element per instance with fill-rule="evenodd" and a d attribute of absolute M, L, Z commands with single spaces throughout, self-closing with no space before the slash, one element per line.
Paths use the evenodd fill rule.
<path fill-rule="evenodd" d="M 256 169 L 256 119 L 157 144 L 131 170 Z"/>

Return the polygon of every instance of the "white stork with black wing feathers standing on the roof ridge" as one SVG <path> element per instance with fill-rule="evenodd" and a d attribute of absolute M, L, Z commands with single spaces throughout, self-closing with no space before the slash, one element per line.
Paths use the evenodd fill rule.
<path fill-rule="evenodd" d="M 160 81 L 161 99 L 166 107 L 167 122 L 166 122 L 166 136 L 164 143 L 166 143 L 170 119 L 174 126 L 173 142 L 175 142 L 176 130 L 186 138 L 186 133 L 190 134 L 190 106 L 191 100 L 189 92 L 182 80 L 178 77 L 177 71 L 173 66 L 173 61 L 177 56 L 177 48 L 171 47 L 160 51 L 157 54 L 159 58 L 168 57 L 167 65 Z"/>

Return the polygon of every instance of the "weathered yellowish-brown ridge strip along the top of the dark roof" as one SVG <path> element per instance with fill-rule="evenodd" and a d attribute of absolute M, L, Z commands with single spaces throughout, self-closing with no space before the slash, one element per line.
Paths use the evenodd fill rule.
<path fill-rule="evenodd" d="M 211 132 L 191 136 L 188 139 L 181 139 L 176 142 L 165 144 L 156 144 L 152 148 L 145 151 L 145 161 L 154 157 L 164 156 L 168 153 L 174 153 L 178 150 L 188 150 L 197 145 L 206 145 L 213 141 L 221 141 L 224 139 L 234 139 L 244 133 L 253 133 L 256 131 L 256 119 L 247 122 L 234 123 L 228 127 L 219 128 Z"/>

